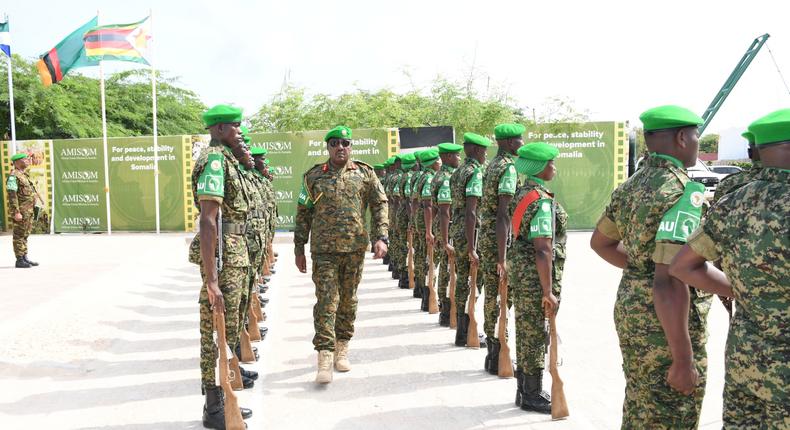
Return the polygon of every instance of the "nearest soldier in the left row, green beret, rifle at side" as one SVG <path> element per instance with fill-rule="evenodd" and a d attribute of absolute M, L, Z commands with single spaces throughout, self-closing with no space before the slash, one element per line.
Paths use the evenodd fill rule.
<path fill-rule="evenodd" d="M 189 261 L 200 265 L 203 285 L 200 289 L 200 371 L 206 394 L 203 425 L 224 428 L 222 390 L 217 386 L 214 369 L 217 346 L 214 343 L 213 311 L 224 311 L 228 345 L 239 342 L 239 306 L 247 287 L 250 265 L 244 230 L 249 210 L 248 190 L 241 179 L 239 162 L 232 149 L 241 143 L 241 109 L 218 105 L 203 114 L 211 131 L 211 142 L 195 162 L 192 193 L 200 211 L 200 232 L 192 240 Z M 222 215 L 222 225 L 217 215 Z M 216 265 L 217 232 L 222 231 L 221 270 Z M 251 415 L 251 411 L 243 411 Z"/>

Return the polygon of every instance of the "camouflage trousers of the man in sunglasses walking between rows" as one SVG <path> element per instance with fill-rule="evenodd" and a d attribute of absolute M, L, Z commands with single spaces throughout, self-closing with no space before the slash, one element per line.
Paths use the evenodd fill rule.
<path fill-rule="evenodd" d="M 350 340 L 357 318 L 357 287 L 365 251 L 313 254 L 313 307 L 316 351 L 334 351 L 336 340 Z"/>

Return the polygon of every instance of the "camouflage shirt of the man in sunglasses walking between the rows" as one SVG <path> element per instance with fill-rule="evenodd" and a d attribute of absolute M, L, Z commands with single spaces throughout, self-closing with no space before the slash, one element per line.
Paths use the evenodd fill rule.
<path fill-rule="evenodd" d="M 296 255 L 363 251 L 370 245 L 364 208 L 372 212 L 373 237 L 387 236 L 387 196 L 373 168 L 360 161 L 336 169 L 327 161 L 304 174 L 296 210 Z M 310 237 L 312 236 L 312 238 Z"/>

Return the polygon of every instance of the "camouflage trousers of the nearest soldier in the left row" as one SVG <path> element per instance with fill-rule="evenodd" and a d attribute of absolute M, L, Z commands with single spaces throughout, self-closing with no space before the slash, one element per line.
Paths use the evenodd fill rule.
<path fill-rule="evenodd" d="M 219 273 L 219 289 L 225 301 L 225 339 L 231 347 L 239 343 L 239 307 L 247 288 L 247 267 L 223 267 Z M 203 388 L 217 385 L 214 369 L 217 367 L 217 344 L 214 342 L 214 316 L 208 301 L 206 274 L 200 268 L 203 286 L 200 288 L 200 379 Z"/>

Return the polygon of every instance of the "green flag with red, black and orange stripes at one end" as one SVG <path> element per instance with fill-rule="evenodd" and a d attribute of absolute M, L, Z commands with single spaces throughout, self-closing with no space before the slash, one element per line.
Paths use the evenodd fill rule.
<path fill-rule="evenodd" d="M 96 27 L 98 23 L 98 18 L 94 17 L 41 56 L 36 68 L 45 87 L 62 81 L 66 73 L 73 68 L 99 65 L 98 61 L 85 56 L 82 42 L 82 35 Z"/>

